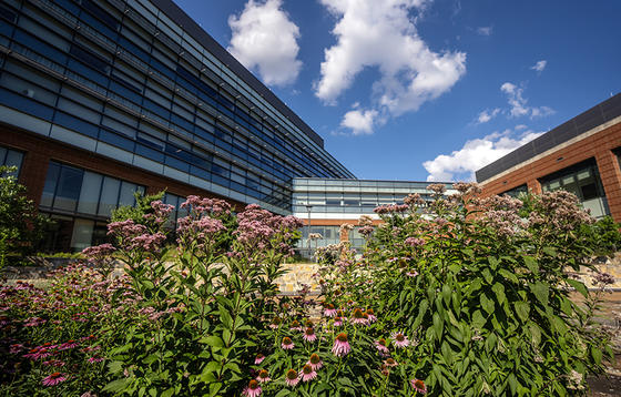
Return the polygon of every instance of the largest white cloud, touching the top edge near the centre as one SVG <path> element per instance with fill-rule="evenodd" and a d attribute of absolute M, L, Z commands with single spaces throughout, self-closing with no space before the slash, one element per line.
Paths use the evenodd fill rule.
<path fill-rule="evenodd" d="M 416 111 L 438 98 L 466 72 L 464 52 L 434 52 L 416 31 L 426 0 L 320 0 L 338 20 L 337 43 L 324 51 L 315 94 L 335 103 L 365 68 L 377 68 L 374 108 L 381 114 Z"/>

